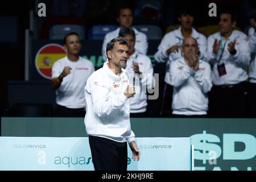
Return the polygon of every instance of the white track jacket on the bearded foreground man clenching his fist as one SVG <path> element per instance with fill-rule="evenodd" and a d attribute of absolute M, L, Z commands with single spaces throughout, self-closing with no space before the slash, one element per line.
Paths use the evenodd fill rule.
<path fill-rule="evenodd" d="M 94 72 L 85 85 L 85 129 L 88 135 L 103 137 L 116 142 L 134 141 L 130 126 L 130 100 L 123 94 L 129 80 L 126 70 L 115 75 L 104 63 Z"/>

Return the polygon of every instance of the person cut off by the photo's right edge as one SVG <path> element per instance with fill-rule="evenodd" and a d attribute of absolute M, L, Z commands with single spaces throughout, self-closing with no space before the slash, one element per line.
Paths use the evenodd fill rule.
<path fill-rule="evenodd" d="M 249 88 L 248 88 L 248 101 L 249 101 L 249 117 L 256 117 L 256 23 L 254 19 L 250 20 L 251 27 L 249 30 L 249 51 L 251 53 L 250 71 L 249 71 Z"/>

